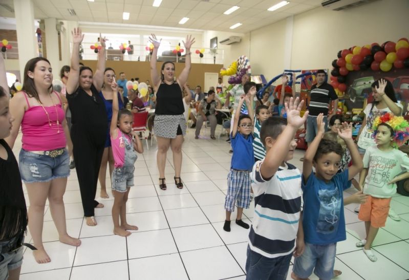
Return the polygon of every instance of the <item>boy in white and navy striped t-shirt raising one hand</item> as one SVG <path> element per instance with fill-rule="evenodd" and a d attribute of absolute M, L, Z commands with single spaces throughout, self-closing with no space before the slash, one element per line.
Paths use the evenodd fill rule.
<path fill-rule="evenodd" d="M 270 117 L 261 127 L 267 154 L 254 164 L 251 178 L 255 214 L 247 247 L 248 280 L 286 279 L 291 256 L 304 251 L 301 173 L 287 163 L 297 146 L 295 133 L 308 116 L 306 112 L 300 117 L 303 102 L 290 98 L 287 119 Z"/>

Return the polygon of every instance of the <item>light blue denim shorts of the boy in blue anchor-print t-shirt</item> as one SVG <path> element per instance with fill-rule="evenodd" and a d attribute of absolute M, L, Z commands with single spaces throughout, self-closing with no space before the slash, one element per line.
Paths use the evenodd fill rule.
<path fill-rule="evenodd" d="M 322 280 L 330 280 L 334 275 L 336 243 L 316 245 L 305 243 L 302 255 L 295 258 L 293 272 L 300 278 L 308 278 L 313 270 Z"/>

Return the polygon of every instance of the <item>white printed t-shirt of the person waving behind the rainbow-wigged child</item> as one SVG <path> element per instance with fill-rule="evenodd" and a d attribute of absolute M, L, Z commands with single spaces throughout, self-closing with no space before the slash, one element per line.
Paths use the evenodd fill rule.
<path fill-rule="evenodd" d="M 395 103 L 398 105 L 401 109 L 403 108 L 403 105 L 401 103 Z M 359 135 L 358 139 L 358 147 L 362 149 L 367 149 L 370 146 L 375 146 L 375 139 L 372 138 L 372 133 L 374 132 L 372 129 L 372 125 L 374 123 L 374 120 L 376 117 L 383 116 L 386 113 L 392 113 L 392 111 L 389 109 L 389 107 L 386 107 L 385 109 L 378 109 L 376 105 L 372 108 L 372 103 L 369 103 L 367 107 L 365 107 L 365 110 L 363 110 L 363 113 L 367 117 L 367 124 L 362 128 L 361 134 Z"/>

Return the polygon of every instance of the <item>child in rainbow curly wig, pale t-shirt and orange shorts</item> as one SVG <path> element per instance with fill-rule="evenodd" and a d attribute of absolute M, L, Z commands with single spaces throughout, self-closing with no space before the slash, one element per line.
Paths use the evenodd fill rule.
<path fill-rule="evenodd" d="M 409 158 L 397 149 L 409 139 L 409 123 L 403 117 L 386 113 L 373 123 L 376 146 L 367 148 L 359 184 L 369 198 L 359 209 L 358 218 L 365 222 L 365 239 L 356 243 L 372 262 L 377 261 L 371 250 L 380 227 L 385 226 L 396 182 L 409 178 Z"/>

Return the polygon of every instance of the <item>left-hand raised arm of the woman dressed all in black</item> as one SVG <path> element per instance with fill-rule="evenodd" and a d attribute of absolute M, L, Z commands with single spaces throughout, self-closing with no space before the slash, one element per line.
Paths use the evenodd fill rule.
<path fill-rule="evenodd" d="M 82 34 L 81 29 L 79 27 L 74 28 L 71 31 L 72 34 L 72 54 L 71 54 L 71 67 L 70 67 L 70 75 L 68 76 L 67 84 L 66 84 L 66 92 L 67 94 L 73 94 L 78 88 L 78 81 L 79 81 L 79 46 L 84 38 L 84 34 Z"/>

